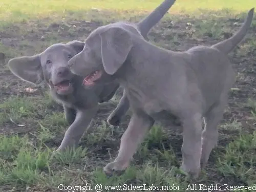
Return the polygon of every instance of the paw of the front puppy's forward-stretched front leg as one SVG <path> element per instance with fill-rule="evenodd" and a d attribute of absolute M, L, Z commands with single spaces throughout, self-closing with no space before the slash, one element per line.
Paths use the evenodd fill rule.
<path fill-rule="evenodd" d="M 111 162 L 103 168 L 103 172 L 107 176 L 121 175 L 125 172 L 125 169 L 129 166 L 128 163 L 121 163 L 118 161 Z"/>

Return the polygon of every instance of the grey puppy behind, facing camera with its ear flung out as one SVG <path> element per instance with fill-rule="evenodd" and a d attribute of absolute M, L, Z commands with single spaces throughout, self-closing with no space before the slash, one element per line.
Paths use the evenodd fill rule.
<path fill-rule="evenodd" d="M 174 2 L 175 0 L 165 0 L 139 23 L 129 24 L 130 32 L 142 35 L 148 40 L 147 33 Z M 113 81 L 108 84 L 89 85 L 84 89 L 83 77 L 72 74 L 68 67 L 68 60 L 82 51 L 83 47 L 84 42 L 74 40 L 67 44 L 54 44 L 37 55 L 16 57 L 8 62 L 11 72 L 20 79 L 33 84 L 45 80 L 49 84 L 53 98 L 62 103 L 70 126 L 57 150 L 78 145 L 98 110 L 98 102 L 109 101 L 119 87 L 119 83 Z M 118 125 L 129 107 L 129 100 L 123 95 L 117 108 L 109 116 L 108 122 Z"/>

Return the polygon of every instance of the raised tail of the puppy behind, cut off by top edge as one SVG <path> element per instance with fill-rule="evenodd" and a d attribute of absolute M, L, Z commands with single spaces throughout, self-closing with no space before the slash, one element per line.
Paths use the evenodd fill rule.
<path fill-rule="evenodd" d="M 165 13 L 169 10 L 170 7 L 175 3 L 176 0 L 165 0 L 159 5 L 151 14 L 143 18 L 138 24 L 138 29 L 140 34 L 146 39 L 147 33 L 151 30 L 151 28 L 156 25 L 160 19 L 165 15 Z"/>

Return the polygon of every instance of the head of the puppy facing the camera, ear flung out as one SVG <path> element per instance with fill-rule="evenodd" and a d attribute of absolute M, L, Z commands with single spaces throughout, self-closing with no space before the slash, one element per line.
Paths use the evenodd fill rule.
<path fill-rule="evenodd" d="M 68 61 L 82 51 L 84 42 L 70 41 L 67 44 L 54 44 L 44 52 L 10 59 L 8 67 L 20 79 L 32 84 L 46 81 L 52 91 L 59 95 L 73 92 L 73 81 L 78 79 L 71 73 Z"/>

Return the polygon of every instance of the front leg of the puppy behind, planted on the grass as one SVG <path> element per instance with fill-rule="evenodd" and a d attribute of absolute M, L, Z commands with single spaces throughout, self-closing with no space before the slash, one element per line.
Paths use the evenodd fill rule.
<path fill-rule="evenodd" d="M 90 127 L 91 120 L 98 111 L 98 105 L 87 110 L 78 110 L 75 121 L 66 131 L 65 136 L 57 151 L 65 150 L 67 147 L 77 146 L 83 133 Z"/>

